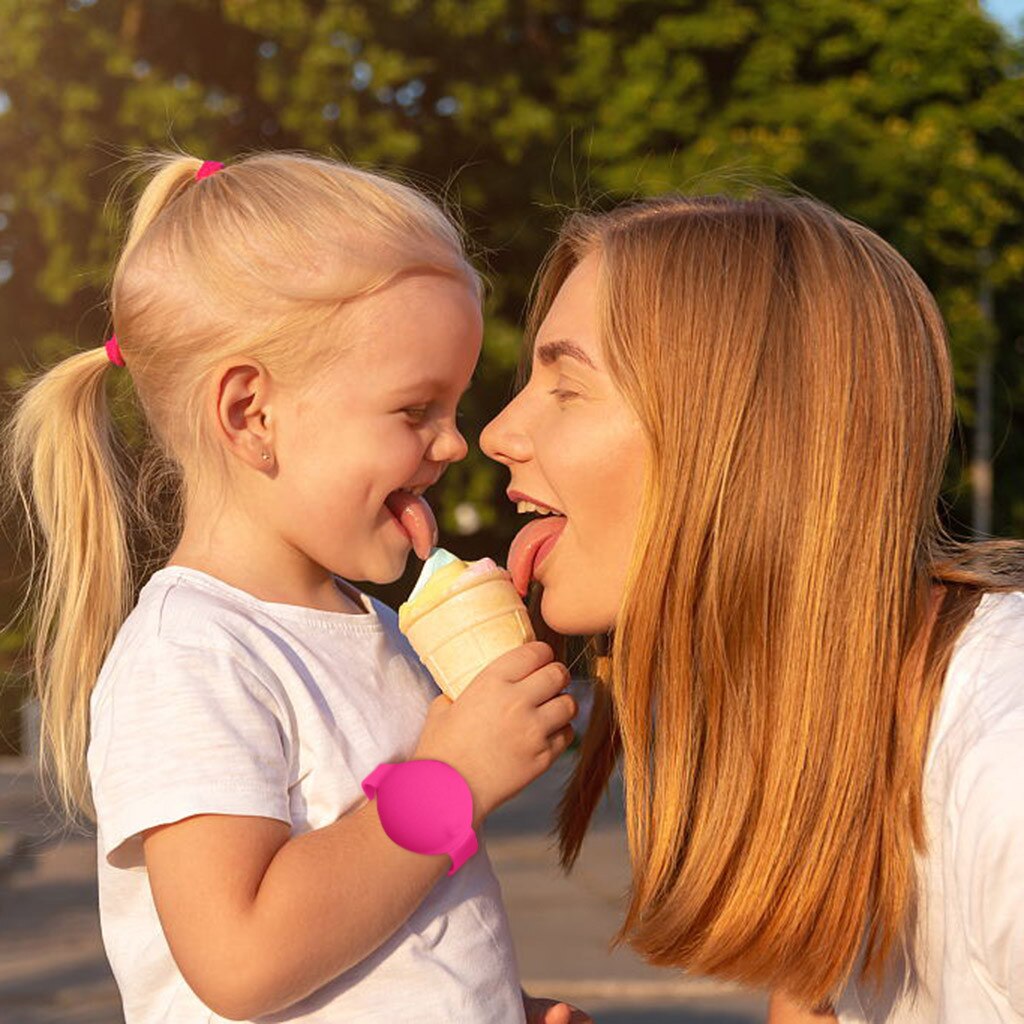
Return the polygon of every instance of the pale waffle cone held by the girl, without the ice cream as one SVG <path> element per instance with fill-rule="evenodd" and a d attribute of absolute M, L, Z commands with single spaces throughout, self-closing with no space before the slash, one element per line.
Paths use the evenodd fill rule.
<path fill-rule="evenodd" d="M 402 616 L 402 632 L 445 696 L 455 700 L 495 658 L 534 640 L 526 608 L 504 569 L 467 575 Z"/>

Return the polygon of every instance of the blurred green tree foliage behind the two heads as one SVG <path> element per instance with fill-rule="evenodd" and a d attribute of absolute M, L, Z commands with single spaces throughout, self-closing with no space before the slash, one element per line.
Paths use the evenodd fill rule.
<path fill-rule="evenodd" d="M 510 394 L 567 209 L 792 182 L 889 239 L 938 296 L 965 444 L 996 346 L 994 526 L 1020 534 L 1022 66 L 974 0 L 0 0 L 0 359 L 13 382 L 104 337 L 124 153 L 308 148 L 398 165 L 461 209 L 492 284 L 473 441 Z M 477 508 L 480 531 L 451 542 L 468 555 L 511 538 L 504 480 L 473 453 L 438 487 L 449 532 L 460 502 Z"/>

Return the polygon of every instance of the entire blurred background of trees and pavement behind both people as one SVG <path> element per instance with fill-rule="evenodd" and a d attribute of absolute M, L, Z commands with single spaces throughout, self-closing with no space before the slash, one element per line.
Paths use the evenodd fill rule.
<path fill-rule="evenodd" d="M 446 547 L 504 560 L 506 474 L 475 441 L 511 393 L 561 218 L 761 182 L 870 225 L 928 283 L 958 389 L 943 515 L 961 536 L 1022 536 L 1022 36 L 1024 0 L 0 0 L 0 413 L 27 375 L 108 336 L 126 155 L 302 148 L 388 169 L 461 211 L 488 281 L 471 454 L 432 501 Z M 109 377 L 133 443 L 130 379 Z M 27 767 L 16 512 L 0 534 L 0 1020 L 111 1024 L 94 843 L 54 838 Z M 368 589 L 397 603 L 410 562 Z M 487 821 L 524 983 L 559 979 L 543 994 L 598 1024 L 763 1020 L 756 993 L 608 956 L 623 808 L 599 812 L 579 878 L 555 878 L 570 757 Z"/>

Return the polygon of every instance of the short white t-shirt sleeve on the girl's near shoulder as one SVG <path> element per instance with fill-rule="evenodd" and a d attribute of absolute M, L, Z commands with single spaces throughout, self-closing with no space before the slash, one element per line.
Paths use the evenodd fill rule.
<path fill-rule="evenodd" d="M 290 823 L 287 716 L 223 650 L 164 641 L 94 694 L 90 775 L 103 855 L 143 863 L 140 833 L 197 814 Z"/>

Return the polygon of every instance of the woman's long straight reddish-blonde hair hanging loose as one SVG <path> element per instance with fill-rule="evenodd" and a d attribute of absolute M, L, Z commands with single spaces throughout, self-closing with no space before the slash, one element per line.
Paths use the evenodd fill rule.
<path fill-rule="evenodd" d="M 562 865 L 622 756 L 633 878 L 613 944 L 815 1005 L 858 953 L 880 980 L 910 940 L 945 667 L 981 593 L 1024 587 L 1024 545 L 943 532 L 945 331 L 872 231 L 769 191 L 572 216 L 523 373 L 591 253 L 603 354 L 650 456 Z"/>

